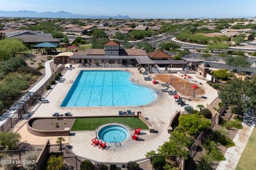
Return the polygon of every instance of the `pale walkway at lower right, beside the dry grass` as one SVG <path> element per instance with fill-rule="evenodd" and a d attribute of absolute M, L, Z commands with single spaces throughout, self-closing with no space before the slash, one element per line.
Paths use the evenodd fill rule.
<path fill-rule="evenodd" d="M 231 170 L 236 168 L 236 165 L 244 151 L 246 143 L 253 131 L 255 123 L 256 117 L 253 113 L 246 113 L 244 115 L 243 129 L 237 132 L 233 140 L 236 146 L 227 149 L 224 155 L 226 160 L 220 162 L 217 170 Z"/>

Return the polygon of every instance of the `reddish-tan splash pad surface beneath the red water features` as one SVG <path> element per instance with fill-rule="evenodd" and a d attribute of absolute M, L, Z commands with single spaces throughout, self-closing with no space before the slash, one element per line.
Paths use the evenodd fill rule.
<path fill-rule="evenodd" d="M 162 81 L 162 82 L 167 82 L 168 81 L 168 75 L 167 74 L 156 74 L 154 76 L 154 79 Z M 180 79 L 178 77 L 174 76 L 174 79 L 169 82 L 172 87 L 179 92 L 181 96 L 188 96 L 192 98 L 192 93 L 194 92 L 194 89 L 191 88 L 191 86 L 198 86 L 195 83 L 191 83 L 189 81 L 186 81 L 186 88 L 184 87 L 184 79 Z M 195 90 L 195 100 L 200 100 L 201 96 L 205 94 L 205 91 L 203 88 L 198 87 L 198 89 Z"/>

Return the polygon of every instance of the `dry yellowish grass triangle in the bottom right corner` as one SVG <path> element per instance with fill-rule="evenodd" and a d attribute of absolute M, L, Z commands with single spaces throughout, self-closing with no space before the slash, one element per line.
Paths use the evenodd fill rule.
<path fill-rule="evenodd" d="M 236 170 L 253 170 L 256 162 L 256 128 L 253 129 L 252 134 L 247 142 L 241 158 L 236 166 Z"/>

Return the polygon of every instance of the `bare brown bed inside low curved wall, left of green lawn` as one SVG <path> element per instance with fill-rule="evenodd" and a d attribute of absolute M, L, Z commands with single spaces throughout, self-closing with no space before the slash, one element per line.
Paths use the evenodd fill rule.
<path fill-rule="evenodd" d="M 59 127 L 55 128 L 55 123 L 58 122 Z M 64 130 L 65 128 L 72 128 L 75 118 L 55 119 L 38 119 L 32 123 L 32 128 L 37 130 Z"/>

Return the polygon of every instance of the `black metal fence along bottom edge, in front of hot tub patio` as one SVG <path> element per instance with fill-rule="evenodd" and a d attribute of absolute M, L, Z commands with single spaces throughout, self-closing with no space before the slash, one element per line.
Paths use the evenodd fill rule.
<path fill-rule="evenodd" d="M 176 156 L 168 156 L 168 157 L 164 157 L 164 156 L 151 156 L 148 158 L 143 158 L 143 159 L 139 159 L 139 160 L 135 160 L 132 162 L 128 162 L 128 163 L 121 163 L 121 162 L 97 162 L 95 160 L 92 159 L 88 159 L 88 158 L 84 158 L 81 156 L 77 156 L 76 154 L 74 154 L 74 152 L 72 152 L 70 149 L 68 149 L 66 146 L 62 145 L 60 147 L 60 145 L 48 145 L 50 153 L 49 154 L 53 154 L 56 156 L 63 156 L 64 158 L 64 163 L 66 165 L 68 165 L 69 167 L 72 167 L 74 169 L 81 169 L 81 164 L 84 160 L 89 160 L 93 166 L 94 166 L 94 170 L 101 170 L 101 169 L 110 169 L 110 170 L 126 170 L 126 169 L 130 169 L 130 170 L 135 170 L 135 169 L 156 169 L 154 167 L 154 161 L 156 162 L 157 160 L 159 161 L 159 159 L 162 158 L 162 160 L 165 162 L 169 162 L 175 166 L 179 166 L 181 164 L 184 164 L 182 161 L 183 159 L 181 159 L 180 157 L 176 157 Z"/>

